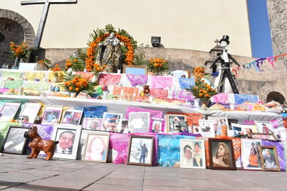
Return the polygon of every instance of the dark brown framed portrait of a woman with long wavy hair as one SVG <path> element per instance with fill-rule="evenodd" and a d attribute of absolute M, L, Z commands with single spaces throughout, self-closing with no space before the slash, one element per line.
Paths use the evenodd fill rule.
<path fill-rule="evenodd" d="M 210 169 L 235 170 L 232 139 L 208 139 Z"/>

